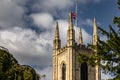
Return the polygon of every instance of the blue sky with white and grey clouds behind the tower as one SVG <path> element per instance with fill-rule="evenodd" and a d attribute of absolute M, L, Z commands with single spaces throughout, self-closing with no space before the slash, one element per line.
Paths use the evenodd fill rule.
<path fill-rule="evenodd" d="M 84 43 L 91 43 L 94 17 L 108 30 L 114 16 L 120 16 L 116 1 L 77 0 L 76 36 L 81 27 Z M 63 46 L 68 14 L 74 10 L 75 0 L 0 0 L 0 46 L 8 48 L 21 65 L 31 65 L 40 75 L 46 74 L 46 80 L 52 80 L 55 24 L 59 22 Z"/>

